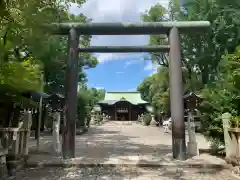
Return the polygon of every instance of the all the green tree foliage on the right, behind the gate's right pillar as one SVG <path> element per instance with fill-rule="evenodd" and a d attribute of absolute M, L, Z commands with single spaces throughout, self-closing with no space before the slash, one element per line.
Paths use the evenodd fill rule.
<path fill-rule="evenodd" d="M 194 91 L 203 97 L 199 107 L 205 134 L 213 142 L 223 142 L 221 114 L 239 115 L 240 98 L 240 1 L 170 0 L 168 9 L 156 4 L 143 13 L 143 21 L 210 21 L 204 35 L 181 35 L 184 91 Z M 151 36 L 149 44 L 165 44 L 165 36 Z M 156 114 L 168 114 L 168 71 L 166 54 L 149 54 L 160 66 L 159 71 L 139 85 L 142 97 L 150 101 Z M 165 57 L 166 59 L 164 59 Z M 159 76 L 161 78 L 159 78 Z M 168 99 L 168 101 L 167 101 Z M 170 115 L 170 114 L 169 114 Z"/>

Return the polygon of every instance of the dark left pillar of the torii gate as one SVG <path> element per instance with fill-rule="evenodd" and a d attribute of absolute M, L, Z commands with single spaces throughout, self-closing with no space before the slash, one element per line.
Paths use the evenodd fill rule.
<path fill-rule="evenodd" d="M 79 35 L 71 28 L 68 35 L 68 64 L 66 74 L 66 104 L 65 116 L 66 127 L 64 127 L 64 152 L 63 157 L 75 157 L 75 135 L 77 118 L 77 84 L 78 84 L 78 46 Z"/>

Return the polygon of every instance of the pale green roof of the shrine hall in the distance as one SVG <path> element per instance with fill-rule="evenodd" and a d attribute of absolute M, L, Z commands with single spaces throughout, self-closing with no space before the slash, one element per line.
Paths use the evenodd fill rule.
<path fill-rule="evenodd" d="M 142 100 L 139 92 L 107 92 L 105 99 L 100 101 L 101 104 L 115 104 L 118 101 L 128 101 L 131 104 L 148 104 Z"/>

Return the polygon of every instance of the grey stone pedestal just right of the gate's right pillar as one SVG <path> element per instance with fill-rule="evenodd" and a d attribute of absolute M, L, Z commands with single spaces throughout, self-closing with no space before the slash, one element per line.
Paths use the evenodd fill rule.
<path fill-rule="evenodd" d="M 195 123 L 194 116 L 192 112 L 188 113 L 188 136 L 189 142 L 187 143 L 188 156 L 196 156 L 199 154 L 196 133 L 195 133 Z"/>

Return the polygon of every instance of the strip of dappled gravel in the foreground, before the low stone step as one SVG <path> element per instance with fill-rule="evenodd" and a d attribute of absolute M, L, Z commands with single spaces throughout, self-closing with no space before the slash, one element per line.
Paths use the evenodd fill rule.
<path fill-rule="evenodd" d="M 193 168 L 32 168 L 15 180 L 239 180 L 229 170 Z"/>

